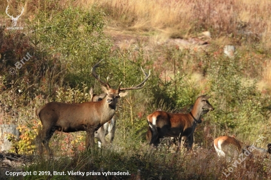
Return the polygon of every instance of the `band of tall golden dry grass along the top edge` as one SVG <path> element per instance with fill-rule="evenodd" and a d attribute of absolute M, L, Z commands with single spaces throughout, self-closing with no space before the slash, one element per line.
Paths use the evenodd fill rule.
<path fill-rule="evenodd" d="M 211 30 L 216 36 L 241 34 L 269 44 L 271 2 L 245 0 L 77 0 L 107 9 L 111 26 L 127 30 L 167 30 L 195 33 Z"/>

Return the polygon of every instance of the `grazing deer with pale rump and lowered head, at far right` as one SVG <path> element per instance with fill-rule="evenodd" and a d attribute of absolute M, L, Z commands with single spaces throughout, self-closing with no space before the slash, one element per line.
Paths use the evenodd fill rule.
<path fill-rule="evenodd" d="M 234 136 L 220 136 L 214 140 L 214 149 L 216 150 L 217 155 L 219 157 L 225 157 L 226 153 L 229 153 L 231 151 L 235 151 L 238 153 L 244 152 L 250 154 L 250 152 L 252 152 L 253 150 L 258 150 L 260 152 L 271 153 L 271 143 L 269 143 L 267 146 L 268 150 L 257 148 L 253 145 L 245 146 L 244 143 L 235 139 Z"/>

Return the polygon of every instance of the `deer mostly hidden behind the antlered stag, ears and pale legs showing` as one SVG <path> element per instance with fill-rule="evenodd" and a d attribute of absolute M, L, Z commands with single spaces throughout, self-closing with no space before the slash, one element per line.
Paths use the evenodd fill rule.
<path fill-rule="evenodd" d="M 102 94 L 95 94 L 93 89 L 90 88 L 90 99 L 91 101 L 101 101 L 106 94 L 102 93 Z M 95 138 L 98 138 L 98 144 L 99 147 L 101 148 L 101 145 L 106 145 L 107 142 L 105 140 L 105 136 L 108 134 L 109 135 L 109 141 L 110 143 L 113 142 L 114 136 L 115 136 L 115 116 L 113 116 L 113 118 L 111 120 L 109 120 L 108 122 L 104 123 L 99 129 L 98 131 L 95 131 Z"/>

